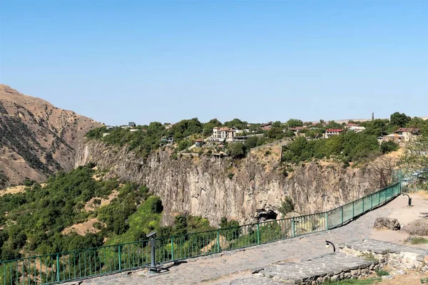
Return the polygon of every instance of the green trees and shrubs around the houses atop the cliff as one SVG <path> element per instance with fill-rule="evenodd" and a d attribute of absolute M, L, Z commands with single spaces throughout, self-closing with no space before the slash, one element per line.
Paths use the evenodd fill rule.
<path fill-rule="evenodd" d="M 305 142 L 303 139 L 298 139 L 292 145 L 305 145 L 305 150 L 286 150 L 285 161 L 299 162 L 308 160 L 312 157 L 330 157 L 331 155 L 339 156 L 340 148 L 345 149 L 345 154 L 340 150 L 340 156 L 346 162 L 359 160 L 362 157 L 374 157 L 377 153 L 387 153 L 397 149 L 394 142 L 382 142 L 382 145 L 376 147 L 375 138 L 394 133 L 398 128 L 419 128 L 424 135 L 428 134 L 428 120 L 422 118 L 410 118 L 404 113 L 393 113 L 388 119 L 375 119 L 365 122 L 350 121 L 349 123 L 357 123 L 365 130 L 362 133 L 343 134 L 339 138 L 334 138 L 331 141 L 322 142 Z M 304 127 L 305 128 L 302 128 Z M 165 128 L 165 124 L 152 122 L 149 125 L 138 125 L 138 131 L 130 132 L 127 128 L 113 128 L 106 130 L 106 127 L 98 128 L 89 131 L 86 136 L 92 139 L 103 140 L 107 145 L 120 145 L 129 147 L 129 150 L 135 150 L 143 157 L 147 157 L 153 150 L 158 149 L 162 144 L 163 138 L 173 138 L 176 143 L 176 151 L 187 150 L 193 145 L 195 138 L 208 138 L 213 134 L 213 128 L 227 127 L 243 130 L 242 135 L 260 134 L 259 136 L 250 136 L 245 143 L 230 142 L 226 144 L 228 153 L 231 157 L 245 157 L 248 151 L 260 145 L 265 145 L 275 140 L 283 138 L 294 138 L 295 128 L 299 128 L 300 133 L 305 133 L 307 139 L 320 139 L 328 129 L 345 130 L 345 123 L 339 124 L 335 121 L 325 122 L 320 120 L 319 123 L 304 123 L 302 120 L 292 118 L 286 123 L 279 121 L 273 122 L 268 129 L 262 129 L 261 124 L 248 123 L 246 121 L 235 118 L 233 120 L 221 123 L 217 119 L 212 119 L 208 123 L 201 123 L 198 118 L 189 120 L 181 120 L 170 128 Z M 103 138 L 103 133 L 108 132 L 108 135 Z M 249 133 L 248 133 L 249 132 Z M 352 139 L 348 139 L 352 138 Z M 339 140 L 340 142 L 335 142 Z M 358 142 L 357 142 L 358 141 Z M 342 144 L 343 147 L 332 147 L 330 145 Z M 346 149 L 357 146 L 355 150 L 346 152 Z M 301 146 L 300 146 L 301 147 Z M 365 148 L 367 147 L 367 148 Z"/>

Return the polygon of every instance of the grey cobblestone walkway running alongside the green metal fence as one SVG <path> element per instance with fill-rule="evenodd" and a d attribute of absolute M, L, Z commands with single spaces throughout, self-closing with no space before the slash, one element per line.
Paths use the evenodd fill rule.
<path fill-rule="evenodd" d="M 414 196 L 414 195 L 413 195 Z M 418 200 L 419 199 L 419 200 Z M 419 196 L 414 197 L 414 204 L 418 201 L 427 203 L 427 199 Z M 394 211 L 406 211 L 407 199 L 398 197 L 384 207 L 368 212 L 362 217 L 356 219 L 350 224 L 337 229 L 317 234 L 309 234 L 295 239 L 286 239 L 280 242 L 272 242 L 257 247 L 249 247 L 233 252 L 223 252 L 213 254 L 207 257 L 198 257 L 188 259 L 178 265 L 172 265 L 168 268 L 167 274 L 161 274 L 151 278 L 142 276 L 139 271 L 123 272 L 109 276 L 101 276 L 93 279 L 86 279 L 81 282 L 71 282 L 71 284 L 225 284 L 228 274 L 237 274 L 246 270 L 255 268 L 265 268 L 270 264 L 277 262 L 299 262 L 307 259 L 320 257 L 332 252 L 332 249 L 326 249 L 325 240 L 329 240 L 336 245 L 340 243 L 369 239 L 372 231 L 374 219 L 377 217 L 386 217 Z M 424 206 L 426 207 L 426 205 Z M 425 211 L 421 207 L 421 212 Z M 417 219 L 418 217 L 415 217 Z M 168 266 L 166 264 L 165 266 Z M 250 271 L 247 271 L 251 276 Z M 254 284 L 280 284 L 260 283 L 263 279 L 252 279 Z M 259 283 L 258 283 L 259 282 Z M 250 283 L 247 283 L 250 284 Z"/>

